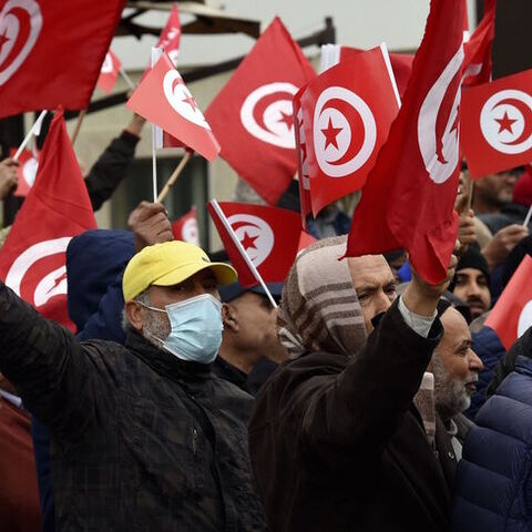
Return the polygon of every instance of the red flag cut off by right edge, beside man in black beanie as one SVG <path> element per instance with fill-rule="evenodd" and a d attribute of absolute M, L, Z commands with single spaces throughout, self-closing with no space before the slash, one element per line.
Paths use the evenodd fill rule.
<path fill-rule="evenodd" d="M 531 279 L 532 258 L 525 255 L 485 320 L 507 351 L 532 326 Z"/>

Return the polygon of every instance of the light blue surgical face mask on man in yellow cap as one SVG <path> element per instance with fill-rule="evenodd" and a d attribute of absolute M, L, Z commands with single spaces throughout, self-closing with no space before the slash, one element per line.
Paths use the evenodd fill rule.
<path fill-rule="evenodd" d="M 139 301 L 141 303 L 141 301 Z M 211 364 L 222 345 L 222 304 L 211 294 L 191 297 L 161 308 L 149 307 L 160 313 L 166 311 L 171 331 L 165 340 L 156 338 L 172 355 L 182 360 Z M 153 335 L 151 335 L 153 336 Z"/>

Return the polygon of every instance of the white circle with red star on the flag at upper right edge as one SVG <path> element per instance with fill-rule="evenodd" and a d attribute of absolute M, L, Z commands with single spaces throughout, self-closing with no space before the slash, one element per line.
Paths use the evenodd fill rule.
<path fill-rule="evenodd" d="M 482 106 L 480 129 L 498 152 L 526 152 L 532 147 L 532 96 L 514 89 L 497 92 Z"/>

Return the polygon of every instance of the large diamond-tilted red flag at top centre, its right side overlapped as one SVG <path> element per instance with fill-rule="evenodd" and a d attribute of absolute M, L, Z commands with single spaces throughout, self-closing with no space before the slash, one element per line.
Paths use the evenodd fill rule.
<path fill-rule="evenodd" d="M 205 113 L 222 157 L 272 205 L 296 172 L 291 99 L 315 75 L 276 18 Z"/>

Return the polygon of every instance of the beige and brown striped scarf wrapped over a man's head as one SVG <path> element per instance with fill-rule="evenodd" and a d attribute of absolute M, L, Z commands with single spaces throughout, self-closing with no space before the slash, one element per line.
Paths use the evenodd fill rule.
<path fill-rule="evenodd" d="M 316 242 L 301 252 L 288 274 L 278 311 L 278 334 L 290 358 L 305 352 L 356 355 L 366 327 L 352 286 L 346 236 Z"/>

